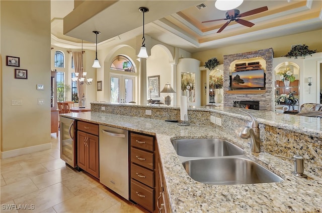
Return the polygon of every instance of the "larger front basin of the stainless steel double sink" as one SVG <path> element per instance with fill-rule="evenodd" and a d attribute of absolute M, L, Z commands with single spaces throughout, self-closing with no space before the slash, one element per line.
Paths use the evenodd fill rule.
<path fill-rule="evenodd" d="M 246 156 L 192 159 L 184 162 L 183 166 L 192 179 L 212 185 L 271 183 L 283 180 Z"/>

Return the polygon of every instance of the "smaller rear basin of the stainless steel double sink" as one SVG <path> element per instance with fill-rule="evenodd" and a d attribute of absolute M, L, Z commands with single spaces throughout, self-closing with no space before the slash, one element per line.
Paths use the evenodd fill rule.
<path fill-rule="evenodd" d="M 223 139 L 177 139 L 172 141 L 177 154 L 184 157 L 243 155 L 244 150 Z"/>

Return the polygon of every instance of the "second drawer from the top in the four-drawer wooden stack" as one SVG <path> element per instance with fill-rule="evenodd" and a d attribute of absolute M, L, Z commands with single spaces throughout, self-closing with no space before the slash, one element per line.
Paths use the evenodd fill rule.
<path fill-rule="evenodd" d="M 153 170 L 153 153 L 131 147 L 131 162 Z"/>

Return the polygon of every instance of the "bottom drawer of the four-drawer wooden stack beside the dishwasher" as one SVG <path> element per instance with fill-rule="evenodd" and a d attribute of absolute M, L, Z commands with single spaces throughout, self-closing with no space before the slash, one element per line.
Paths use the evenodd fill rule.
<path fill-rule="evenodd" d="M 153 211 L 153 189 L 131 180 L 131 199 L 149 211 Z"/>

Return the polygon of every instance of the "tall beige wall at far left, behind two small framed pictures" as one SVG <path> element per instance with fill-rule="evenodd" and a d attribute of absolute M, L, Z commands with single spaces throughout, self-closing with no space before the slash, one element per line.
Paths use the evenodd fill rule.
<path fill-rule="evenodd" d="M 1 151 L 50 144 L 50 1 L 0 4 Z M 20 67 L 7 66 L 6 55 L 20 57 Z M 15 68 L 27 69 L 28 79 L 15 79 Z M 12 100 L 22 106 L 11 106 Z"/>

